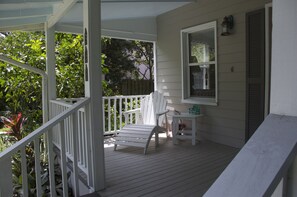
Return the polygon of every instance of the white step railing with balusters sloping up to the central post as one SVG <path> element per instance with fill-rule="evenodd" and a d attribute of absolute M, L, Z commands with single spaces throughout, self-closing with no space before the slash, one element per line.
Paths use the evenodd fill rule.
<path fill-rule="evenodd" d="M 49 169 L 49 185 L 51 196 L 56 196 L 56 183 L 55 183 L 55 158 L 54 158 L 54 144 L 53 144 L 53 134 L 59 135 L 59 145 L 60 145 L 60 164 L 61 164 L 61 174 L 62 174 L 62 187 L 63 187 L 63 196 L 68 196 L 68 177 L 67 177 L 67 156 L 72 156 L 72 168 L 73 168 L 73 183 L 72 190 L 75 196 L 79 196 L 79 172 L 78 168 L 81 165 L 80 159 L 80 149 L 81 145 L 79 141 L 84 141 L 84 146 L 87 147 L 88 139 L 84 139 L 79 136 L 78 128 L 80 127 L 80 113 L 83 108 L 89 105 L 90 99 L 84 98 L 75 104 L 69 106 L 66 110 L 59 113 L 57 116 L 53 117 L 47 123 L 24 137 L 22 140 L 16 142 L 11 147 L 7 148 L 0 153 L 0 197 L 13 196 L 13 171 L 12 171 L 12 162 L 13 158 L 17 155 L 20 155 L 21 162 L 21 187 L 23 196 L 29 196 L 29 184 L 28 184 L 28 171 L 27 171 L 27 158 L 26 157 L 26 148 L 30 146 L 34 151 L 34 162 L 35 162 L 35 179 L 36 179 L 36 196 L 43 196 L 44 192 L 42 187 L 43 183 L 41 180 L 41 160 L 42 152 L 41 141 L 43 135 L 45 134 L 47 138 L 47 162 Z M 58 131 L 56 130 L 58 128 Z M 67 130 L 71 128 L 71 134 L 67 134 Z M 55 131 L 54 131 L 55 130 Z M 53 133 L 55 132 L 55 133 Z M 69 142 L 68 142 L 69 140 Z M 32 146 L 33 144 L 33 146 Z M 67 144 L 67 148 L 66 148 Z M 88 157 L 88 151 L 85 153 L 85 157 Z M 91 160 L 90 157 L 86 159 Z M 88 165 L 87 163 L 84 165 Z M 88 170 L 91 170 L 91 167 L 87 167 Z M 88 174 L 92 175 L 91 172 Z"/>

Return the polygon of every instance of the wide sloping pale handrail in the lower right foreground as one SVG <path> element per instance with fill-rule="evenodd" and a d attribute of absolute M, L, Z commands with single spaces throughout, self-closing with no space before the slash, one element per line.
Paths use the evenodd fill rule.
<path fill-rule="evenodd" d="M 297 155 L 297 117 L 270 114 L 205 197 L 271 196 Z M 277 188 L 277 190 L 276 190 Z"/>

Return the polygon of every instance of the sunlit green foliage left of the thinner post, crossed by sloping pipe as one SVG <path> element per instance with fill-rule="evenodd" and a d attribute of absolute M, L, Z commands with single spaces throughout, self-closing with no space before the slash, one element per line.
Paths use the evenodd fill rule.
<path fill-rule="evenodd" d="M 0 36 L 0 53 L 9 58 L 45 70 L 45 47 L 42 32 L 5 33 Z M 26 132 L 40 126 L 41 77 L 0 61 L 0 107 L 28 117 Z"/>

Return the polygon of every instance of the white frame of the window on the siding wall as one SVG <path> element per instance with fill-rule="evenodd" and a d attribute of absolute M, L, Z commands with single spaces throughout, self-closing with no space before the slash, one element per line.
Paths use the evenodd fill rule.
<path fill-rule="evenodd" d="M 208 65 L 215 65 L 215 97 L 191 97 L 190 96 L 190 66 L 189 63 L 189 34 L 199 32 L 206 29 L 214 29 L 214 47 L 215 47 L 215 61 L 209 61 Z M 197 25 L 194 27 L 181 30 L 181 60 L 182 60 L 182 103 L 201 104 L 201 105 L 218 105 L 218 56 L 217 56 L 217 21 Z"/>

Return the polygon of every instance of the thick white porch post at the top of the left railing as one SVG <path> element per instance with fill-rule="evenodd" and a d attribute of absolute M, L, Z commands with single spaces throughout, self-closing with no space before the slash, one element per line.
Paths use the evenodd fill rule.
<path fill-rule="evenodd" d="M 84 0 L 85 96 L 90 97 L 87 117 L 90 125 L 92 180 L 95 191 L 105 187 L 104 135 L 102 116 L 101 1 Z M 89 160 L 90 161 L 90 160 Z"/>

